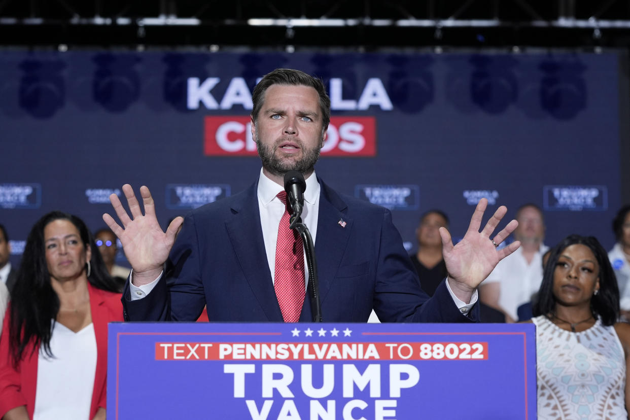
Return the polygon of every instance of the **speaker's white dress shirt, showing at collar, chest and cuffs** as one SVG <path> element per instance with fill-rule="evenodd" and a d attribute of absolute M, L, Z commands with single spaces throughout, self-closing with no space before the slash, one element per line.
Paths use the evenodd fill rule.
<path fill-rule="evenodd" d="M 269 271 L 275 273 L 275 250 L 276 250 L 276 242 L 278 241 L 278 225 L 280 225 L 280 219 L 282 219 L 282 215 L 284 214 L 284 204 L 280 201 L 280 198 L 277 198 L 277 194 L 284 190 L 284 187 L 280 184 L 273 182 L 271 179 L 267 178 L 265 174 L 263 174 L 263 170 L 260 169 L 260 176 L 258 177 L 258 209 L 260 210 L 260 224 L 263 230 L 263 240 L 265 241 L 265 251 L 267 254 L 267 263 L 269 264 Z M 304 209 L 302 210 L 302 222 L 306 224 L 309 228 L 309 232 L 311 232 L 313 245 L 315 244 L 315 236 L 317 234 L 317 222 L 319 216 L 319 192 L 320 187 L 317 181 L 317 177 L 315 176 L 315 172 L 306 179 L 306 190 L 304 191 Z M 306 256 L 305 256 L 306 258 Z M 308 268 L 306 267 L 306 262 L 304 264 L 305 276 L 304 280 L 308 281 Z M 131 292 L 131 300 L 138 300 L 147 295 L 147 293 L 151 292 L 153 288 L 157 285 L 157 281 L 161 278 L 163 273 L 160 273 L 157 276 L 156 280 L 152 281 L 147 285 L 143 285 L 140 287 L 134 286 L 133 283 L 130 283 L 130 292 Z M 130 281 L 132 280 L 130 276 Z M 306 287 L 306 283 L 305 287 Z M 446 288 L 449 290 L 450 296 L 452 297 L 457 308 L 461 310 L 462 313 L 465 313 L 473 307 L 473 305 L 478 300 L 478 294 L 475 290 L 473 293 L 473 297 L 471 298 L 471 302 L 466 304 L 462 302 L 455 296 L 455 293 L 450 288 L 449 281 L 446 281 Z"/>

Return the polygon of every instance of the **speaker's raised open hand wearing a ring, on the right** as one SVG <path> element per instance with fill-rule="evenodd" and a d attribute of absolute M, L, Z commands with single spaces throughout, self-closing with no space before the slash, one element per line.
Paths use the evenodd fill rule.
<path fill-rule="evenodd" d="M 479 232 L 481 219 L 483 219 L 483 213 L 486 211 L 487 205 L 488 200 L 485 198 L 479 200 L 464 239 L 455 246 L 453 246 L 449 231 L 445 227 L 440 227 L 442 254 L 444 254 L 446 270 L 449 273 L 449 286 L 455 293 L 455 296 L 466 303 L 470 302 L 474 290 L 481 281 L 490 275 L 496 264 L 516 251 L 520 246 L 520 242 L 515 241 L 506 247 L 496 249 L 496 246 L 505 241 L 505 238 L 510 236 L 513 230 L 516 229 L 518 226 L 516 220 L 508 223 L 493 239 L 490 238 L 492 232 L 495 231 L 497 225 L 507 213 L 505 206 L 497 208 L 495 214 L 488 220 L 483 230 Z"/>

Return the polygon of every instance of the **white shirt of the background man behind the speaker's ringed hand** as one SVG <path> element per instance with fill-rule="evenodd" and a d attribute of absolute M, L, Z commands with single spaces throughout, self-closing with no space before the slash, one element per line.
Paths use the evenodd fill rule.
<path fill-rule="evenodd" d="M 532 295 L 541 288 L 542 255 L 547 249 L 549 247 L 541 244 L 530 264 L 520 247 L 499 261 L 495 270 L 484 280 L 486 284 L 500 283 L 499 305 L 512 319 L 518 319 L 518 307 L 530 302 Z"/>

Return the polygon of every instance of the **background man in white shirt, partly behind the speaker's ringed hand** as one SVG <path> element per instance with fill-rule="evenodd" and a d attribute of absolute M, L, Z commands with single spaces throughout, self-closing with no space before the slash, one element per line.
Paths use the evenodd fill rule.
<path fill-rule="evenodd" d="M 479 287 L 479 298 L 484 304 L 500 310 L 507 322 L 518 320 L 518 307 L 531 301 L 542 281 L 542 255 L 547 247 L 542 243 L 545 224 L 542 210 L 527 203 L 518 208 L 518 227 L 514 238 L 520 248 L 500 261 L 495 270 Z"/>

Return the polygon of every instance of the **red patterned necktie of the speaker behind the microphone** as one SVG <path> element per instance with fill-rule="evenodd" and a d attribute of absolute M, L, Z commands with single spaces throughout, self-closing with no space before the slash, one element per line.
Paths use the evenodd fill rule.
<path fill-rule="evenodd" d="M 280 191 L 278 198 L 284 203 L 284 214 L 278 225 L 276 262 L 273 287 L 275 288 L 284 322 L 297 322 L 304 303 L 304 254 L 302 239 L 289 229 L 287 192 Z"/>

